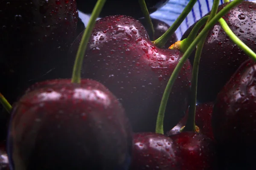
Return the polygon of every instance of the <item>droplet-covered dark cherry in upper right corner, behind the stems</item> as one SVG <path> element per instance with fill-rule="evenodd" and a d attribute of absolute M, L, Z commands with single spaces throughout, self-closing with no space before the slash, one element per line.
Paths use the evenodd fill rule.
<path fill-rule="evenodd" d="M 227 3 L 219 6 L 221 10 Z M 256 3 L 243 1 L 226 15 L 230 29 L 249 48 L 256 51 Z M 208 14 L 207 14 L 208 15 Z M 183 35 L 188 36 L 193 26 Z M 189 59 L 194 61 L 195 53 Z M 225 34 L 219 23 L 209 31 L 201 54 L 198 73 L 198 102 L 214 102 L 221 88 L 249 57 Z M 207 80 L 207 81 L 206 81 Z"/>

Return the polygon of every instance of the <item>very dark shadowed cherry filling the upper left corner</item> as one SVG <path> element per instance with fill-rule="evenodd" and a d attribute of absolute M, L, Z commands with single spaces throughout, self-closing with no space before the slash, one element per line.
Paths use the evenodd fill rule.
<path fill-rule="evenodd" d="M 75 0 L 0 1 L 0 91 L 11 104 L 37 81 L 67 77 L 77 19 Z"/>

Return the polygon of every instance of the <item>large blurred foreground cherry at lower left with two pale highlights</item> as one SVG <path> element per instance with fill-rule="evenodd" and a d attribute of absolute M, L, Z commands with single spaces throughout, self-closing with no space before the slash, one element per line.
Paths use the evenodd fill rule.
<path fill-rule="evenodd" d="M 122 105 L 105 86 L 55 79 L 32 86 L 12 110 L 12 169 L 127 170 L 132 133 Z"/>

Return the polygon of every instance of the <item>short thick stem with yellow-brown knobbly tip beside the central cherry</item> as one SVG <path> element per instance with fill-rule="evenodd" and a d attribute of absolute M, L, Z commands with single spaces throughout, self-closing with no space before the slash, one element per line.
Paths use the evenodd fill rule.
<path fill-rule="evenodd" d="M 202 26 L 204 26 L 204 24 L 207 22 L 208 18 L 209 18 L 209 15 L 201 18 L 195 24 L 195 26 L 193 27 L 193 29 L 191 30 L 191 32 L 189 33 L 189 36 L 187 38 L 185 38 L 182 41 L 175 42 L 173 45 L 171 45 L 169 47 L 169 49 L 175 49 L 175 50 L 179 50 L 182 53 L 185 53 L 185 51 L 187 50 L 187 48 L 189 47 L 191 42 L 193 42 L 195 40 L 195 37 L 198 34 L 198 31 L 200 30 L 200 28 Z"/>

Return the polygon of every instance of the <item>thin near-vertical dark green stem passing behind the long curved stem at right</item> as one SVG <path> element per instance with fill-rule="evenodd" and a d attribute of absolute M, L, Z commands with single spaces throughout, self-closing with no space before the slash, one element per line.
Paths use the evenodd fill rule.
<path fill-rule="evenodd" d="M 212 10 L 208 17 L 207 23 L 216 15 L 218 11 L 218 4 L 220 0 L 214 0 L 212 4 Z M 197 84 L 198 84 L 198 70 L 199 70 L 199 63 L 201 58 L 201 53 L 204 47 L 204 42 L 206 40 L 207 33 L 203 38 L 200 40 L 197 46 L 197 50 L 195 52 L 195 59 L 192 68 L 192 80 L 191 80 L 191 91 L 190 91 L 190 98 L 189 98 L 189 114 L 188 119 L 186 122 L 183 131 L 193 131 L 195 132 L 195 110 L 196 110 L 196 98 L 197 98 Z"/>

